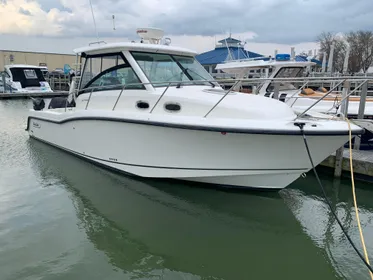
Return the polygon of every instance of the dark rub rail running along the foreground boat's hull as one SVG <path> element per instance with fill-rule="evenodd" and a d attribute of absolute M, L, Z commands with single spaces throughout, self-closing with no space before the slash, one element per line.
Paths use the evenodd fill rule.
<path fill-rule="evenodd" d="M 178 128 L 178 129 L 188 129 L 188 130 L 202 130 L 202 131 L 212 131 L 220 133 L 240 133 L 240 134 L 264 134 L 264 135 L 303 135 L 300 130 L 261 130 L 261 129 L 250 129 L 250 128 L 225 128 L 225 127 L 211 127 L 203 125 L 192 125 L 192 124 L 179 124 L 179 123 L 166 123 L 166 122 L 156 122 L 150 120 L 134 120 L 126 118 L 115 118 L 115 117 L 92 117 L 92 116 L 79 116 L 66 118 L 64 120 L 50 120 L 42 117 L 29 116 L 27 118 L 27 127 L 26 131 L 30 127 L 30 119 L 36 119 L 56 124 L 63 124 L 71 121 L 80 121 L 80 120 L 103 120 L 103 121 L 113 121 L 113 122 L 124 122 L 130 124 L 140 124 L 140 125 L 151 125 L 151 126 L 161 126 L 167 128 Z M 299 122 L 294 122 L 294 125 L 299 124 Z M 341 136 L 348 135 L 348 130 L 336 130 L 336 131 L 304 131 L 306 135 L 318 136 L 318 135 L 329 135 L 329 136 Z M 364 129 L 358 131 L 352 131 L 352 135 L 360 135 L 364 133 Z"/>

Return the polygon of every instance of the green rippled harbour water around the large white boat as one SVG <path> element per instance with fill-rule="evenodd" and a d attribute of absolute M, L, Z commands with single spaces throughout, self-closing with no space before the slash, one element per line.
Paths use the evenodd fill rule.
<path fill-rule="evenodd" d="M 29 139 L 28 108 L 0 101 L 0 279 L 369 279 L 311 174 L 271 194 L 140 181 Z M 361 249 L 350 181 L 322 179 Z"/>

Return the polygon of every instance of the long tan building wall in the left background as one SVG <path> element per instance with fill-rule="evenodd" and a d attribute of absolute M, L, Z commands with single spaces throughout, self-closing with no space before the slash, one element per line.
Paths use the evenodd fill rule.
<path fill-rule="evenodd" d="M 13 62 L 10 61 L 11 55 L 13 55 Z M 74 54 L 67 55 L 0 50 L 0 71 L 3 71 L 4 65 L 7 64 L 30 64 L 39 66 L 39 63 L 45 63 L 49 71 L 56 68 L 63 68 L 65 64 L 69 64 L 70 67 L 74 68 L 76 57 Z"/>

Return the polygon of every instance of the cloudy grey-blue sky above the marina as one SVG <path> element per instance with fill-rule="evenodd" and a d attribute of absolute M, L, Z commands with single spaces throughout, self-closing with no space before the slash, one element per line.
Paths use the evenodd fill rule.
<path fill-rule="evenodd" d="M 271 55 L 317 49 L 323 31 L 373 30 L 372 0 L 0 0 L 0 49 L 72 53 L 97 41 L 90 1 L 99 40 L 138 40 L 136 28 L 157 27 L 197 52 L 230 33 Z"/>

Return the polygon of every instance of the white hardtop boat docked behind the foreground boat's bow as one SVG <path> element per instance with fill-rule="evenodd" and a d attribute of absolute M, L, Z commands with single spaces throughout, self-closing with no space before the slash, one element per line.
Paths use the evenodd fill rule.
<path fill-rule="evenodd" d="M 307 68 L 314 66 L 316 63 L 311 61 L 296 61 L 290 59 L 290 55 L 278 54 L 275 58 L 255 58 L 255 59 L 242 59 L 231 60 L 225 63 L 218 64 L 216 69 L 225 73 L 235 75 L 237 79 L 255 76 L 266 78 L 257 88 L 257 94 L 273 98 L 275 94 L 275 80 L 283 79 L 279 85 L 280 101 L 287 103 L 298 111 L 304 111 L 309 106 L 315 103 L 316 100 L 323 97 L 327 90 L 320 88 L 313 90 L 305 88 L 299 90 L 294 86 L 294 78 L 306 78 L 308 74 Z M 260 74 L 257 74 L 259 72 Z M 285 79 L 289 79 L 286 81 Z M 291 81 L 293 79 L 293 81 Z M 304 82 L 304 81 L 302 81 Z M 363 80 L 361 80 L 363 82 Z M 335 105 L 342 99 L 340 93 L 330 93 L 312 110 L 321 113 L 332 113 L 340 111 L 340 107 L 336 110 Z M 348 117 L 356 118 L 359 112 L 360 97 L 350 96 L 348 105 Z M 365 106 L 365 116 L 373 117 L 373 98 L 367 97 Z"/>

